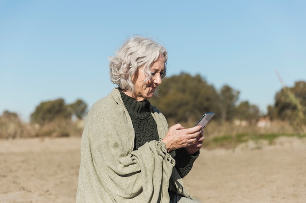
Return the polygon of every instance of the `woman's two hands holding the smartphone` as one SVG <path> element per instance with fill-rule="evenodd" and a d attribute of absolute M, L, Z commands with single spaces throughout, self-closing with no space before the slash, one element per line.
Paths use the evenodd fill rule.
<path fill-rule="evenodd" d="M 202 136 L 201 129 L 201 126 L 185 129 L 180 124 L 175 124 L 169 128 L 162 142 L 166 144 L 168 152 L 189 147 L 197 142 L 198 136 Z"/>

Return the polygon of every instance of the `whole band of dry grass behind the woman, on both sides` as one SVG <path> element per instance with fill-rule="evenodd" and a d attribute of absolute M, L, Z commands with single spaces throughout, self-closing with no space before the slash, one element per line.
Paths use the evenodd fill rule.
<path fill-rule="evenodd" d="M 196 121 L 181 123 L 184 127 L 193 127 Z M 169 126 L 173 123 L 169 122 Z M 0 138 L 11 139 L 21 137 L 80 137 L 84 128 L 84 121 L 55 120 L 44 126 L 26 124 L 18 117 L 0 117 Z M 258 127 L 256 124 L 245 126 L 234 122 L 220 123 L 210 121 L 204 129 L 205 148 L 236 148 L 243 142 L 259 142 L 265 140 L 273 144 L 279 136 L 306 137 L 306 127 L 290 125 L 289 122 L 273 121 L 269 126 Z"/>

